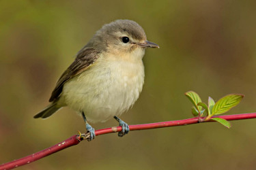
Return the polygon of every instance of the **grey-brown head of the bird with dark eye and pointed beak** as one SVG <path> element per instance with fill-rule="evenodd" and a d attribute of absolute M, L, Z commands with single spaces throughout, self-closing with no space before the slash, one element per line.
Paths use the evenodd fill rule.
<path fill-rule="evenodd" d="M 132 20 L 115 20 L 104 24 L 87 46 L 111 54 L 141 53 L 142 56 L 145 48 L 159 48 L 157 44 L 147 41 L 143 28 Z"/>

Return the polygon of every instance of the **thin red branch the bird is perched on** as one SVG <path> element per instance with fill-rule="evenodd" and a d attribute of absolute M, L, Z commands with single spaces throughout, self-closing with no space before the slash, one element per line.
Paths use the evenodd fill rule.
<path fill-rule="evenodd" d="M 226 116 L 212 116 L 212 118 L 223 118 L 225 120 L 244 120 L 250 118 L 256 118 L 256 113 L 251 114 L 234 114 L 234 115 L 226 115 Z M 208 120 L 205 122 L 214 122 L 214 120 Z M 174 121 L 167 121 L 167 122 L 157 122 L 157 123 L 150 123 L 150 124 L 136 124 L 136 125 L 129 125 L 130 131 L 137 131 L 137 130 L 145 130 L 145 129 L 156 129 L 156 128 L 163 128 L 169 126 L 181 126 L 186 124 L 195 124 L 199 123 L 198 118 L 188 118 L 184 120 L 174 120 Z M 115 133 L 122 131 L 121 126 L 111 127 L 106 129 L 99 129 L 95 131 L 96 136 L 104 135 L 107 133 Z M 55 146 L 42 150 L 40 152 L 36 152 L 35 154 L 31 154 L 29 156 L 25 156 L 24 158 L 20 158 L 18 160 L 13 160 L 10 163 L 5 163 L 0 165 L 0 170 L 2 169 L 13 169 L 15 167 L 19 167 L 22 165 L 26 165 L 32 163 L 35 160 L 40 158 L 44 158 L 50 154 L 55 152 L 59 152 L 65 148 L 70 146 L 75 146 L 83 139 L 86 139 L 89 134 L 82 134 L 82 135 L 74 135 L 61 143 L 57 143 Z"/>

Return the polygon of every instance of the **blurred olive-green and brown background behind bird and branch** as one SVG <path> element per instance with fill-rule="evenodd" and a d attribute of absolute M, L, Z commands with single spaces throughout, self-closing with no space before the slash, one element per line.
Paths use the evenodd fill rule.
<path fill-rule="evenodd" d="M 255 6 L 254 0 L 0 1 L 0 163 L 85 132 L 83 119 L 68 108 L 47 120 L 33 115 L 48 105 L 76 52 L 102 24 L 120 18 L 141 24 L 160 46 L 145 53 L 143 92 L 123 120 L 190 118 L 188 90 L 203 101 L 242 93 L 229 114 L 256 112 Z M 256 120 L 231 124 L 102 135 L 20 169 L 255 169 Z"/>

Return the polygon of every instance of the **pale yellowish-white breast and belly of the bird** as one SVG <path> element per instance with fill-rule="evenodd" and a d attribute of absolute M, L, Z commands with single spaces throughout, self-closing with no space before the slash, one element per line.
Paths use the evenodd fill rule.
<path fill-rule="evenodd" d="M 126 112 L 137 101 L 143 82 L 141 59 L 135 63 L 97 62 L 66 82 L 60 101 L 84 112 L 89 122 L 105 122 Z"/>

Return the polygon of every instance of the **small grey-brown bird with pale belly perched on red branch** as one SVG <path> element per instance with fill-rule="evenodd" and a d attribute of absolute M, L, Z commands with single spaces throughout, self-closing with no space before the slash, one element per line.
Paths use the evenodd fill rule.
<path fill-rule="evenodd" d="M 95 138 L 95 129 L 89 122 L 106 122 L 110 118 L 122 126 L 118 136 L 126 135 L 129 126 L 117 116 L 139 98 L 146 48 L 159 46 L 147 41 L 137 22 L 120 19 L 104 24 L 63 72 L 51 93 L 51 103 L 33 118 L 48 118 L 68 106 L 83 117 L 88 141 Z"/>

